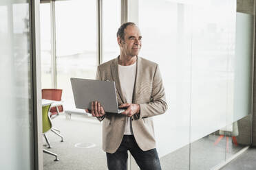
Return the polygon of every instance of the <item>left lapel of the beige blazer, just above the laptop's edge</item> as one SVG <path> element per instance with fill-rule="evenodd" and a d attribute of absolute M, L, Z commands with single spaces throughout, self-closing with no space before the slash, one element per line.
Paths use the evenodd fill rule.
<path fill-rule="evenodd" d="M 118 93 L 116 95 L 119 95 L 120 99 L 122 100 L 122 103 L 125 104 L 126 100 L 122 95 L 122 90 L 121 90 L 119 76 L 118 76 L 118 58 L 119 58 L 119 56 L 111 64 L 111 75 L 112 75 L 113 81 L 116 84 L 116 90 L 117 90 L 117 93 Z"/>

